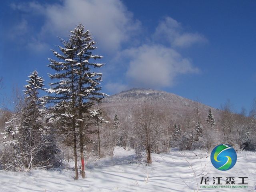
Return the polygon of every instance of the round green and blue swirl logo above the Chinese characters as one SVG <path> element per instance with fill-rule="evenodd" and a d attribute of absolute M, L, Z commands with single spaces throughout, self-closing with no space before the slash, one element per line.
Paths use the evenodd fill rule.
<path fill-rule="evenodd" d="M 221 171 L 226 171 L 236 164 L 236 151 L 230 145 L 220 144 L 211 153 L 212 165 Z"/>

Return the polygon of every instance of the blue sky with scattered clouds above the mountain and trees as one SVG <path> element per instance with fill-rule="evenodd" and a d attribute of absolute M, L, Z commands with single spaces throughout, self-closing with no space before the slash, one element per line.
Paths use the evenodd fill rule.
<path fill-rule="evenodd" d="M 248 111 L 256 97 L 256 2 L 204 0 L 2 1 L 0 98 L 38 70 L 49 78 L 57 36 L 81 22 L 98 42 L 103 91 L 153 88 L 215 108 Z"/>

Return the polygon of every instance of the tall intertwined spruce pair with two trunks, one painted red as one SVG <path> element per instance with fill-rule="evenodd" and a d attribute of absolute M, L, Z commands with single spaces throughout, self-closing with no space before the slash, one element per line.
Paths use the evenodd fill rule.
<path fill-rule="evenodd" d="M 76 129 L 80 138 L 80 157 L 82 164 L 82 177 L 85 177 L 84 171 L 84 134 L 88 125 L 86 122 L 90 118 L 89 112 L 95 102 L 100 102 L 106 94 L 101 93 L 100 82 L 102 74 L 94 72 L 94 68 L 100 68 L 104 64 L 90 62 L 91 59 L 96 60 L 102 56 L 92 54 L 95 50 L 96 42 L 93 40 L 90 32 L 84 30 L 84 26 L 79 24 L 73 31 L 70 31 L 68 41 L 62 40 L 64 47 L 59 46 L 62 54 L 53 50 L 54 55 L 61 60 L 50 60 L 50 67 L 56 70 L 56 74 L 50 74 L 50 78 L 54 80 L 50 84 L 49 93 L 50 102 L 56 103 L 54 111 L 63 114 L 69 118 L 71 122 L 74 136 L 74 155 L 76 179 L 77 171 L 77 154 L 76 154 Z M 68 110 L 64 110 L 68 109 Z M 59 113 L 58 113 L 59 111 Z"/>

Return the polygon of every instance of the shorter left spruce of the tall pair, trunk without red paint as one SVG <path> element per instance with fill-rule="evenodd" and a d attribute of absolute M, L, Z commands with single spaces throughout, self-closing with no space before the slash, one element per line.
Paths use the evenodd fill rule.
<path fill-rule="evenodd" d="M 48 96 L 48 102 L 52 102 L 55 105 L 51 108 L 51 116 L 49 122 L 61 124 L 61 132 L 73 135 L 73 147 L 74 147 L 74 162 L 75 162 L 75 179 L 78 179 L 78 166 L 77 166 L 77 138 L 76 138 L 76 110 L 77 110 L 77 93 L 76 93 L 76 81 L 77 76 L 74 74 L 75 58 L 74 46 L 69 42 L 62 40 L 64 47 L 59 46 L 62 54 L 52 50 L 53 54 L 62 62 L 56 60 L 50 60 L 52 69 L 57 73 L 54 75 L 49 74 L 50 78 L 54 80 L 54 83 L 49 83 L 52 88 L 46 90 L 50 96 Z M 52 96 L 51 96 L 52 95 Z"/>

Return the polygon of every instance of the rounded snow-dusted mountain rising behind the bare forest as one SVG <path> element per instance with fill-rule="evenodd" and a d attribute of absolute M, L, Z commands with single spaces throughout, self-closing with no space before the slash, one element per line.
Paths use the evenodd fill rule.
<path fill-rule="evenodd" d="M 200 111 L 200 121 L 204 122 L 210 106 L 193 100 L 183 98 L 173 93 L 168 93 L 152 89 L 132 88 L 118 94 L 104 98 L 102 108 L 106 110 L 108 116 L 113 118 L 117 114 L 124 121 L 132 118 L 133 111 L 139 106 L 150 104 L 168 115 L 171 122 L 183 122 L 188 116 L 197 121 L 195 107 Z M 215 119 L 218 121 L 220 110 L 212 108 Z"/>

